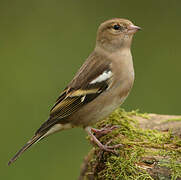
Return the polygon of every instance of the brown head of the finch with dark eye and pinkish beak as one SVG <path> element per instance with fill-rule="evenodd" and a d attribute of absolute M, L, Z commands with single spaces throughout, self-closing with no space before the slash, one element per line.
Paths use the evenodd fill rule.
<path fill-rule="evenodd" d="M 98 28 L 96 46 L 108 51 L 130 48 L 133 35 L 140 29 L 127 19 L 105 21 Z"/>

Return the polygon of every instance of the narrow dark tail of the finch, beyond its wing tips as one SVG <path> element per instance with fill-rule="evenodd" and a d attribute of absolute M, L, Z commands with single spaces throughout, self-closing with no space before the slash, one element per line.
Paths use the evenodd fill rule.
<path fill-rule="evenodd" d="M 16 154 L 11 160 L 8 162 L 8 165 L 12 164 L 16 159 L 25 152 L 29 147 L 31 147 L 34 143 L 38 142 L 43 138 L 43 134 L 35 134 Z"/>

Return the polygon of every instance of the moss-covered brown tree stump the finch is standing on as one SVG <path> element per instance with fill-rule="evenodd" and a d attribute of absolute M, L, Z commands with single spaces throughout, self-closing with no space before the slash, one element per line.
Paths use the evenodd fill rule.
<path fill-rule="evenodd" d="M 181 116 L 116 110 L 96 124 L 118 128 L 100 137 L 103 144 L 122 144 L 117 154 L 93 147 L 79 180 L 181 180 Z"/>

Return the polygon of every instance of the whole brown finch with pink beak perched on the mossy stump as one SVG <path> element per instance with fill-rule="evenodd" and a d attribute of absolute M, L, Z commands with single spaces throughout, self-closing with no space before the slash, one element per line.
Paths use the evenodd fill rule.
<path fill-rule="evenodd" d="M 102 144 L 94 134 L 101 133 L 101 130 L 92 126 L 118 108 L 132 89 L 134 67 L 131 44 L 134 34 L 140 29 L 123 18 L 109 19 L 100 24 L 93 52 L 56 100 L 48 120 L 8 165 L 41 139 L 74 127 L 82 127 L 100 149 L 112 151 L 114 147 Z M 111 129 L 114 127 L 103 131 Z"/>

